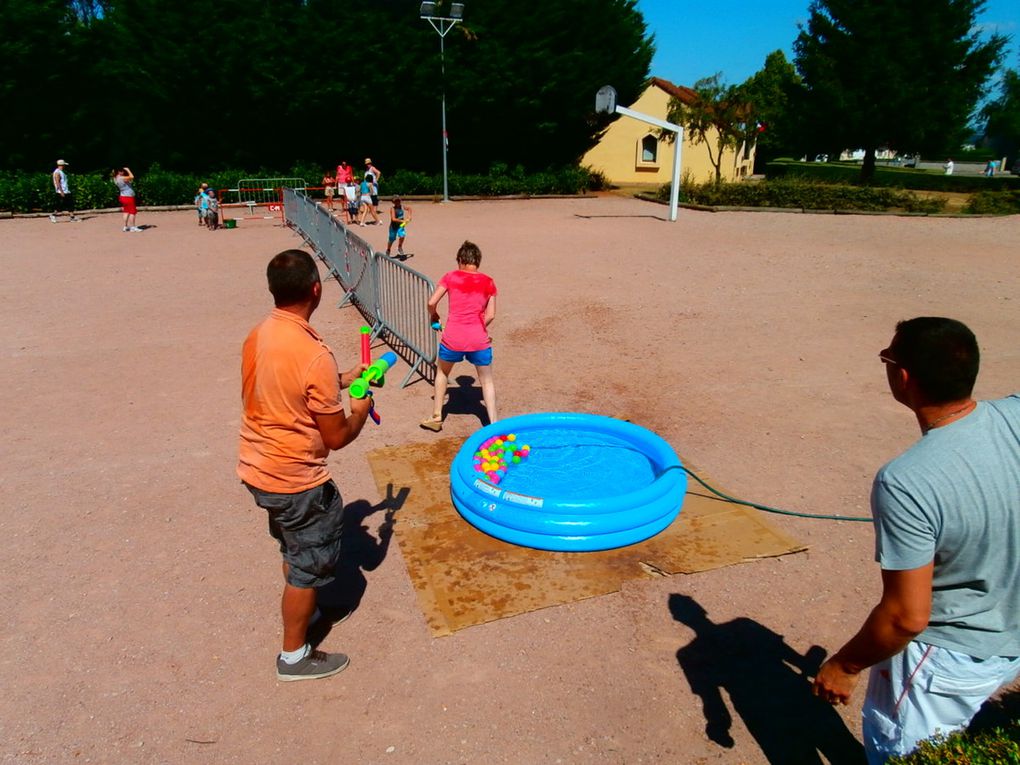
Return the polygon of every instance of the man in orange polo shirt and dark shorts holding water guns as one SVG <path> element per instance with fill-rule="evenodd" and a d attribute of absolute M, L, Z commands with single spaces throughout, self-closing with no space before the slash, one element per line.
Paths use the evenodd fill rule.
<path fill-rule="evenodd" d="M 361 432 L 369 398 L 352 399 L 345 416 L 340 391 L 364 365 L 340 373 L 333 351 L 308 323 L 322 298 L 312 256 L 285 250 L 266 268 L 275 308 L 252 329 L 241 355 L 241 448 L 238 475 L 269 516 L 284 557 L 284 649 L 280 680 L 328 677 L 350 659 L 308 645 L 315 588 L 334 579 L 344 504 L 325 458 Z M 321 615 L 319 615 L 321 617 Z"/>

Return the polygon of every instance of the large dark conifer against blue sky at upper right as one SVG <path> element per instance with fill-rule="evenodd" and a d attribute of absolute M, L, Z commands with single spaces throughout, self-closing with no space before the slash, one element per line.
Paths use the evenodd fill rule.
<path fill-rule="evenodd" d="M 1006 39 L 975 32 L 984 0 L 813 0 L 794 43 L 818 148 L 958 148 Z"/>

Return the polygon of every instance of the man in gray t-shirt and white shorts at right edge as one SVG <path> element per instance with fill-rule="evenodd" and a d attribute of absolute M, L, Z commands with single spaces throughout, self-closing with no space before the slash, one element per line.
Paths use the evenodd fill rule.
<path fill-rule="evenodd" d="M 879 358 L 922 438 L 872 488 L 881 600 L 814 683 L 846 704 L 872 668 L 872 765 L 965 726 L 1020 672 L 1020 396 L 971 398 L 977 341 L 953 319 L 901 321 Z"/>

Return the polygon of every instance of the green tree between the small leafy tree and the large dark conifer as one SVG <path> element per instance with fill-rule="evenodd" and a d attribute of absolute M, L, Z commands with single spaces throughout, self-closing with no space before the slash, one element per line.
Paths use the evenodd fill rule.
<path fill-rule="evenodd" d="M 804 85 L 781 50 L 765 57 L 765 65 L 741 86 L 751 107 L 749 142 L 757 141 L 756 169 L 777 157 L 801 154 L 800 103 Z"/>

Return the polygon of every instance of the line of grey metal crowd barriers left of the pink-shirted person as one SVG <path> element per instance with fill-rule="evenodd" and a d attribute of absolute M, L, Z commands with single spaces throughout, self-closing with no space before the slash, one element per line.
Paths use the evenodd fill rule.
<path fill-rule="evenodd" d="M 353 305 L 381 339 L 410 367 L 401 382 L 419 374 L 436 378 L 438 336 L 428 321 L 426 304 L 435 283 L 371 245 L 329 214 L 304 191 L 284 189 L 284 220 L 314 250 L 344 290 L 337 304 Z"/>

